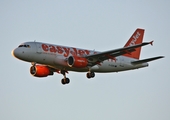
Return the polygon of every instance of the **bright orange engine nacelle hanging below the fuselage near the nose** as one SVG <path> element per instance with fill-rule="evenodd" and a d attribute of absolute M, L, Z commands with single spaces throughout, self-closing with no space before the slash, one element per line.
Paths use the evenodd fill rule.
<path fill-rule="evenodd" d="M 35 77 L 47 77 L 48 75 L 53 75 L 53 72 L 47 66 L 36 65 L 30 67 L 31 75 Z"/>

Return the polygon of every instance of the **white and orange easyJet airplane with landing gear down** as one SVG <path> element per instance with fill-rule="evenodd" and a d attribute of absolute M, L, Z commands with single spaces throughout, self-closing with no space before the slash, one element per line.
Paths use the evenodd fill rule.
<path fill-rule="evenodd" d="M 119 72 L 147 67 L 157 56 L 140 60 L 141 47 L 153 45 L 143 42 L 144 29 L 137 28 L 124 47 L 99 52 L 42 42 L 24 42 L 12 50 L 12 55 L 20 60 L 30 62 L 30 74 L 35 77 L 47 77 L 54 73 L 64 76 L 63 85 L 70 83 L 66 77 L 68 71 L 87 72 L 87 78 L 94 78 L 95 73 Z"/>

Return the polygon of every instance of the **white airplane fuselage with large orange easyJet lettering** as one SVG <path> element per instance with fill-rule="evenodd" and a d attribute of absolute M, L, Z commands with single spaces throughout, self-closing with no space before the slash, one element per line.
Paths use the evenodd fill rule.
<path fill-rule="evenodd" d="M 66 69 L 68 71 L 77 72 L 87 72 L 89 68 L 70 67 L 67 64 L 67 58 L 75 55 L 83 57 L 95 53 L 99 52 L 41 42 L 25 42 L 12 51 L 13 56 L 23 61 L 48 65 L 58 70 Z M 148 63 L 133 65 L 131 64 L 132 61 L 136 61 L 136 59 L 119 56 L 116 57 L 115 60 L 108 59 L 91 67 L 91 71 L 119 72 L 148 66 Z"/>

